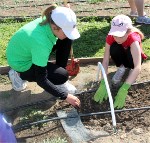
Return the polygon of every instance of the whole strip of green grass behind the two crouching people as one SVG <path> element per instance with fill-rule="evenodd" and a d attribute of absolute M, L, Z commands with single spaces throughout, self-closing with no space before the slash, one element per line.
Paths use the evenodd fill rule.
<path fill-rule="evenodd" d="M 14 22 L 4 21 L 0 23 L 0 65 L 7 65 L 6 60 L 6 47 L 11 36 L 23 26 L 29 22 Z M 138 26 L 144 33 L 145 39 L 143 40 L 143 50 L 150 57 L 150 26 L 142 25 Z M 87 19 L 80 19 L 78 21 L 78 29 L 81 37 L 74 41 L 74 55 L 76 58 L 81 57 L 99 57 L 103 56 L 105 38 L 110 29 L 110 20 L 98 20 L 95 17 Z"/>

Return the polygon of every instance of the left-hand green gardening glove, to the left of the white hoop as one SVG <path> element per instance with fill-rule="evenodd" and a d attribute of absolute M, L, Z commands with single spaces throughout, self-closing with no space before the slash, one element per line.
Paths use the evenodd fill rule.
<path fill-rule="evenodd" d="M 106 90 L 106 85 L 104 80 L 101 80 L 100 87 L 98 88 L 98 90 L 94 95 L 94 101 L 101 103 L 103 102 L 104 99 L 107 100 L 107 98 L 108 98 L 108 94 Z"/>

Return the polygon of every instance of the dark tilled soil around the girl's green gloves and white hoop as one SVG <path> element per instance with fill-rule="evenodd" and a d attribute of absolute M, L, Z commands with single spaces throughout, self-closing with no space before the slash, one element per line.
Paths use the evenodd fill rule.
<path fill-rule="evenodd" d="M 144 89 L 143 89 L 144 88 Z M 116 95 L 116 89 L 111 89 L 111 93 Z M 133 86 L 126 99 L 125 108 L 138 108 L 145 107 L 150 105 L 150 83 L 140 84 Z M 143 96 L 144 95 L 144 96 Z M 109 101 L 105 101 L 102 104 L 95 103 L 93 101 L 94 93 L 83 94 L 81 99 L 81 112 L 82 113 L 91 113 L 91 112 L 103 112 L 110 111 Z M 142 127 L 147 130 L 147 127 L 150 125 L 149 121 L 150 112 L 145 111 L 130 111 L 122 112 L 116 114 L 117 127 L 120 129 L 125 129 L 130 131 L 135 127 Z M 106 128 L 106 124 L 112 124 L 111 116 L 102 115 L 102 116 L 92 116 L 84 119 L 85 123 L 89 124 L 87 121 L 91 120 L 97 121 L 96 126 L 103 127 L 103 130 Z M 92 123 L 91 124 L 95 124 Z"/>

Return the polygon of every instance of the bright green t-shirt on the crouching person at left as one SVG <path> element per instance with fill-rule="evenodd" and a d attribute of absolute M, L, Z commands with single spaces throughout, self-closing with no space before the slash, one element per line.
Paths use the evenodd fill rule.
<path fill-rule="evenodd" d="M 40 26 L 42 18 L 20 28 L 10 39 L 6 56 L 10 67 L 18 72 L 30 69 L 32 64 L 44 67 L 57 38 L 49 24 Z"/>

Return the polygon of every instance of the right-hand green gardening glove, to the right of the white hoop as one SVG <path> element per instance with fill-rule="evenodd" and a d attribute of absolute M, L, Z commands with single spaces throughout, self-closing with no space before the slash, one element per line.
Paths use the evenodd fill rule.
<path fill-rule="evenodd" d="M 114 102 L 114 108 L 117 109 L 122 108 L 125 104 L 126 96 L 128 93 L 128 89 L 130 88 L 130 84 L 124 83 L 119 89 Z"/>

